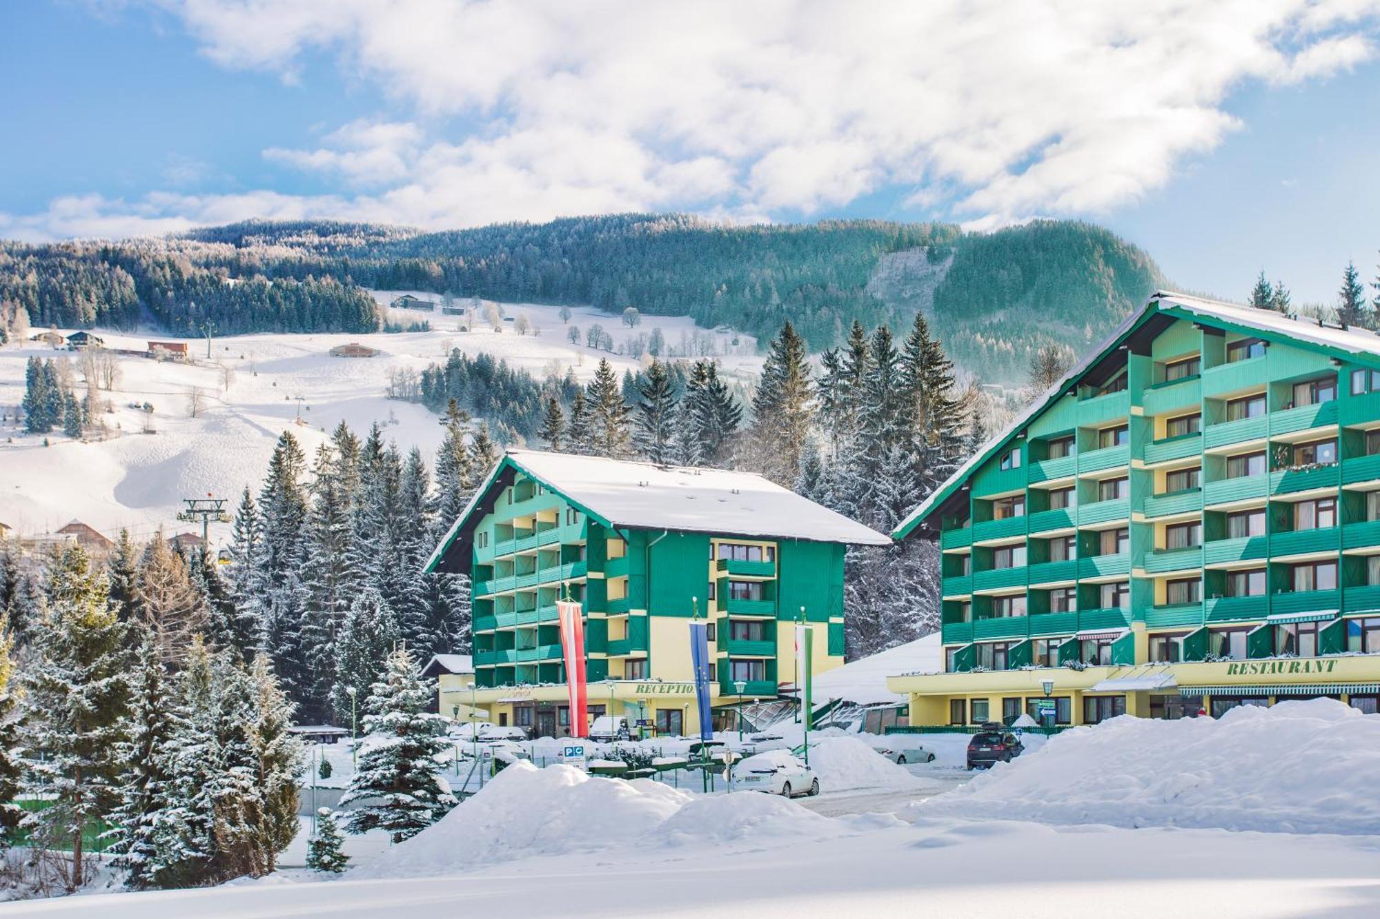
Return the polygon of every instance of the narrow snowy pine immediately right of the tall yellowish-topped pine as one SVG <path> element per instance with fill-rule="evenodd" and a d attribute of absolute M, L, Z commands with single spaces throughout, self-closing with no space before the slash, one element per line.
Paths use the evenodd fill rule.
<path fill-rule="evenodd" d="M 130 672 L 130 711 L 119 756 L 123 764 L 119 806 L 110 813 L 112 864 L 135 889 L 156 886 L 163 810 L 171 791 L 170 747 L 181 712 L 157 644 L 144 629 Z"/>

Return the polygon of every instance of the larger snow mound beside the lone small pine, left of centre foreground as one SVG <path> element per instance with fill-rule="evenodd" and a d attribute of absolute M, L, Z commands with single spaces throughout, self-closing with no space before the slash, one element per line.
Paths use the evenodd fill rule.
<path fill-rule="evenodd" d="M 684 792 L 647 780 L 516 762 L 436 825 L 351 876 L 420 878 L 524 856 L 609 849 L 658 827 L 689 800 Z"/>

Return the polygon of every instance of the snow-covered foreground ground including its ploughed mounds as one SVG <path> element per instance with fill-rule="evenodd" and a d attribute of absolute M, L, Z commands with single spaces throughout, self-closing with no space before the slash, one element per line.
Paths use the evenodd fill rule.
<path fill-rule="evenodd" d="M 1219 720 L 1122 718 L 1032 745 L 1013 763 L 898 814 L 842 817 L 751 792 L 700 795 L 520 763 L 431 829 L 339 879 L 288 871 L 214 890 L 6 911 L 116 919 L 407 911 L 1374 916 L 1377 730 L 1380 716 L 1332 701 L 1242 708 Z M 861 767 L 858 738 L 839 740 L 821 738 L 817 751 L 835 747 L 850 781 L 874 767 Z M 1322 762 L 1323 752 L 1334 766 Z M 1183 818 L 1147 811 L 1148 800 Z M 1246 811 L 1257 829 L 1230 829 Z M 1195 827 L 1143 827 L 1147 813 L 1154 822 Z"/>

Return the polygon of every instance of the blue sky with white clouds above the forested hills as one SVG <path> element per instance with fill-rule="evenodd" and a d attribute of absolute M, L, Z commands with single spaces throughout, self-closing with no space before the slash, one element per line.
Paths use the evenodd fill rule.
<path fill-rule="evenodd" d="M 0 235 L 1047 215 L 1332 302 L 1380 258 L 1376 11 L 1201 7 L 7 4 Z"/>

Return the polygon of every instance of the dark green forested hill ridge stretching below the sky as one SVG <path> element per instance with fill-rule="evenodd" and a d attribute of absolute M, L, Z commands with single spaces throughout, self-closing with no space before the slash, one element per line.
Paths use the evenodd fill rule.
<path fill-rule="evenodd" d="M 875 283 L 883 268 L 890 283 Z M 919 295 L 896 293 L 916 273 Z M 206 319 L 222 331 L 363 331 L 379 317 L 359 288 L 375 287 L 636 306 L 762 341 L 789 319 L 822 349 L 853 319 L 900 327 L 925 309 L 951 353 L 996 382 L 1017 382 L 1038 345 L 1098 337 L 1159 280 L 1145 253 L 1074 222 L 976 235 L 635 214 L 439 233 L 254 221 L 160 240 L 0 244 L 0 302 L 23 306 L 33 326 L 128 326 L 144 306 L 177 331 Z"/>

